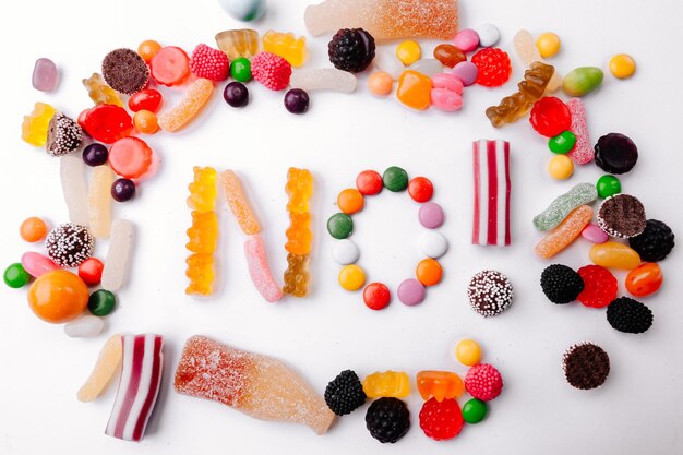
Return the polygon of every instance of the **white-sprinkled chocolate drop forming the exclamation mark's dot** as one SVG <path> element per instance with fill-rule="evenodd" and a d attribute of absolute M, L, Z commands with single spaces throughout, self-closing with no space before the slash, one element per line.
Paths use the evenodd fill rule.
<path fill-rule="evenodd" d="M 467 297 L 477 313 L 484 318 L 495 316 L 512 303 L 512 283 L 500 272 L 482 271 L 469 282 Z"/>

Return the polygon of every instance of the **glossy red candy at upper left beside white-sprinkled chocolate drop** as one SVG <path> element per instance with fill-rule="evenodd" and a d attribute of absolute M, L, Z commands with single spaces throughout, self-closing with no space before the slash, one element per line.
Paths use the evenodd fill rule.
<path fill-rule="evenodd" d="M 133 131 L 133 120 L 125 109 L 97 105 L 79 116 L 79 123 L 95 141 L 112 144 Z"/>

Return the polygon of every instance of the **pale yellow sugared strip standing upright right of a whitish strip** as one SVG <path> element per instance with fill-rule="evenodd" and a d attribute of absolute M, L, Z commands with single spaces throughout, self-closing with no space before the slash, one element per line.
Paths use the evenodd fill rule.
<path fill-rule="evenodd" d="M 111 183 L 113 171 L 109 166 L 96 166 L 91 176 L 87 194 L 87 208 L 91 234 L 96 238 L 107 238 L 111 231 Z"/>

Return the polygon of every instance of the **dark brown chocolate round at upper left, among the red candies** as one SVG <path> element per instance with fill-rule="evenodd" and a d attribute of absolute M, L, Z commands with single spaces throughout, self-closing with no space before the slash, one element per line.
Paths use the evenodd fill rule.
<path fill-rule="evenodd" d="M 149 68 L 134 50 L 116 49 L 103 60 L 101 74 L 111 88 L 132 95 L 147 85 Z"/>

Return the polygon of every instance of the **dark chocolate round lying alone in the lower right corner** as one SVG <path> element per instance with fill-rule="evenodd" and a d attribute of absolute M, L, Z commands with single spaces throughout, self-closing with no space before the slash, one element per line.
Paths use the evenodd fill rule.
<path fill-rule="evenodd" d="M 598 345 L 577 343 L 564 351 L 562 369 L 570 385 L 589 391 L 604 384 L 610 374 L 610 356 Z"/>

